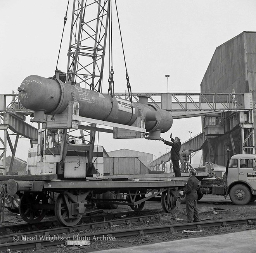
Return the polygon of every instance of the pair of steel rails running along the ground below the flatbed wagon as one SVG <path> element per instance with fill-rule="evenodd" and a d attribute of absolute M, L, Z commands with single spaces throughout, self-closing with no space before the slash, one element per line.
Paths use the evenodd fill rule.
<path fill-rule="evenodd" d="M 37 250 L 42 247 L 53 246 L 58 244 L 65 244 L 66 240 L 76 239 L 76 236 L 72 236 L 71 232 L 80 231 L 80 238 L 87 238 L 92 240 L 93 238 L 107 238 L 111 241 L 111 238 L 121 238 L 127 236 L 145 236 L 147 234 L 154 233 L 177 233 L 177 231 L 183 231 L 187 229 L 204 229 L 206 227 L 218 227 L 218 226 L 232 226 L 238 224 L 255 224 L 256 217 L 247 217 L 244 219 L 234 220 L 221 220 L 221 221 L 205 221 L 189 224 L 169 224 L 166 226 L 152 226 L 152 227 L 138 227 L 134 229 L 116 229 L 116 230 L 104 230 L 101 232 L 91 232 L 82 234 L 83 229 L 112 226 L 122 224 L 123 222 L 135 222 L 143 221 L 145 219 L 153 219 L 154 215 L 145 215 L 139 217 L 129 217 L 125 219 L 115 219 L 108 222 L 92 222 L 90 224 L 80 224 L 74 227 L 59 227 L 56 229 L 46 229 L 20 234 L 9 234 L 1 236 L 1 241 L 5 238 L 5 242 L 10 240 L 9 243 L 1 243 L 0 250 L 21 250 L 28 248 L 36 248 Z M 63 233 L 66 233 L 63 235 Z M 59 235 L 58 235 L 59 234 Z M 60 235 L 61 234 L 61 235 Z M 15 237 L 16 236 L 16 237 Z"/>

